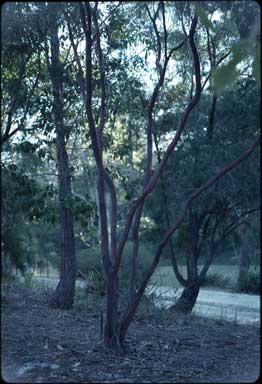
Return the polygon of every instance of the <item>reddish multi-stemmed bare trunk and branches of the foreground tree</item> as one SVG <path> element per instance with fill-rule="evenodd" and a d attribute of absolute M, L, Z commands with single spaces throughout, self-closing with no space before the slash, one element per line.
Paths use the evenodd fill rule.
<path fill-rule="evenodd" d="M 124 227 L 122 236 L 118 243 L 116 244 L 116 221 L 117 221 L 117 196 L 114 182 L 111 176 L 108 174 L 103 159 L 103 130 L 106 120 L 106 83 L 105 83 L 105 67 L 104 67 L 104 58 L 103 51 L 101 48 L 101 31 L 98 24 L 98 3 L 95 7 L 92 7 L 89 3 L 80 3 L 79 12 L 81 18 L 82 29 L 85 35 L 85 70 L 83 70 L 77 52 L 76 45 L 74 43 L 74 38 L 72 34 L 72 29 L 70 26 L 70 21 L 68 20 L 68 28 L 70 32 L 70 40 L 74 49 L 75 60 L 78 65 L 78 75 L 80 89 L 85 103 L 86 115 L 89 125 L 89 132 L 91 136 L 91 145 L 93 149 L 93 155 L 96 162 L 97 172 L 98 172 L 98 205 L 99 205 L 99 216 L 100 216 L 100 228 L 101 228 L 101 254 L 104 266 L 104 273 L 106 276 L 106 288 L 107 288 L 107 298 L 106 298 L 106 321 L 104 328 L 104 343 L 107 347 L 116 350 L 117 352 L 122 351 L 123 343 L 126 337 L 128 327 L 132 321 L 134 313 L 137 309 L 137 306 L 140 302 L 140 299 L 144 293 L 145 287 L 149 278 L 155 270 L 155 267 L 159 261 L 162 249 L 166 245 L 167 241 L 171 235 L 175 232 L 179 224 L 182 222 L 187 210 L 190 208 L 193 200 L 204 190 L 213 185 L 220 177 L 225 173 L 230 171 L 232 168 L 237 166 L 243 159 L 245 159 L 254 149 L 257 141 L 253 146 L 247 150 L 242 156 L 237 160 L 233 161 L 229 165 L 225 166 L 220 172 L 218 172 L 214 177 L 209 181 L 202 184 L 201 187 L 196 189 L 194 193 L 189 197 L 184 209 L 182 210 L 176 223 L 171 226 L 163 237 L 160 245 L 156 251 L 153 262 L 145 272 L 145 277 L 138 288 L 135 286 L 136 273 L 137 273 L 137 259 L 138 259 L 138 247 L 139 247 L 139 226 L 140 219 L 143 210 L 143 206 L 146 200 L 146 197 L 153 191 L 161 171 L 163 170 L 169 156 L 176 147 L 182 132 L 185 129 L 187 120 L 192 112 L 192 110 L 197 105 L 200 95 L 201 95 L 201 76 L 200 76 L 200 63 L 198 50 L 195 45 L 194 36 L 197 26 L 197 16 L 194 15 L 191 20 L 191 26 L 188 33 L 188 36 L 180 42 L 177 46 L 168 50 L 167 37 L 168 32 L 166 29 L 166 20 L 165 20 L 165 4 L 159 3 L 157 10 L 153 11 L 149 6 L 145 5 L 146 12 L 149 19 L 151 20 L 156 41 L 157 41 L 157 60 L 156 67 L 158 71 L 158 81 L 151 95 L 148 107 L 147 107 L 147 127 L 146 127 L 146 142 L 147 142 L 147 159 L 146 159 L 146 169 L 144 173 L 144 181 L 142 192 L 139 197 L 133 202 L 128 216 L 126 225 Z M 159 27 L 157 21 L 162 23 L 162 34 L 160 37 Z M 94 29 L 93 29 L 94 28 Z M 163 40 L 162 40 L 163 39 Z M 174 54 L 179 48 L 181 48 L 185 40 L 188 39 L 189 47 L 192 53 L 192 61 L 194 68 L 194 77 L 195 77 L 195 94 L 190 98 L 189 103 L 187 104 L 185 111 L 182 115 L 179 127 L 177 128 L 176 134 L 169 144 L 164 156 L 156 168 L 155 172 L 152 175 L 152 128 L 154 124 L 153 120 L 153 110 L 159 95 L 160 88 L 164 84 L 165 75 L 168 63 Z M 93 51 L 93 45 L 96 44 L 96 51 Z M 100 121 L 99 124 L 95 124 L 93 108 L 92 108 L 92 82 L 94 81 L 93 74 L 93 55 L 97 55 L 97 63 L 99 69 L 99 82 L 100 82 Z M 84 75 L 85 73 L 85 75 Z M 105 186 L 108 187 L 110 191 L 111 198 L 111 248 L 109 249 L 109 232 L 108 232 L 108 217 L 106 210 L 106 199 L 105 199 Z M 133 225 L 133 256 L 132 256 L 132 269 L 131 269 L 131 279 L 130 279 L 130 294 L 129 302 L 126 309 L 118 314 L 118 270 L 121 263 L 122 252 L 128 238 L 129 231 Z"/>

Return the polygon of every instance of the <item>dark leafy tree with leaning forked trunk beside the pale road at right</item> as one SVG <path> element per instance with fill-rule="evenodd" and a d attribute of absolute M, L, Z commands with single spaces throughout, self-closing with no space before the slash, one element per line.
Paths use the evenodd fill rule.
<path fill-rule="evenodd" d="M 217 54 L 217 35 L 211 34 L 211 31 L 209 31 L 208 27 L 206 26 L 206 32 L 207 32 L 207 53 L 208 53 L 208 60 L 209 60 L 209 66 L 210 70 L 214 72 L 214 70 L 217 68 L 218 64 L 221 63 L 222 60 L 224 60 L 228 53 L 225 55 L 221 55 L 219 58 L 219 55 Z M 221 33 L 221 31 L 220 31 Z M 210 76 L 210 75 L 209 75 Z M 209 77 L 208 76 L 208 77 Z M 213 79 L 210 78 L 210 87 L 209 87 L 209 107 L 206 107 L 206 103 L 202 102 L 202 105 L 206 110 L 208 109 L 208 113 L 205 111 L 197 111 L 195 112 L 194 116 L 194 122 L 200 121 L 200 124 L 198 125 L 198 131 L 200 133 L 196 132 L 190 132 L 190 135 L 188 136 L 189 145 L 188 148 L 186 146 L 184 148 L 179 148 L 177 151 L 177 154 L 175 156 L 176 163 L 175 165 L 172 163 L 169 165 L 170 169 L 173 169 L 174 167 L 181 169 L 181 174 L 179 174 L 180 180 L 185 180 L 182 185 L 180 184 L 177 186 L 173 185 L 173 183 L 169 182 L 170 192 L 167 191 L 166 184 L 164 182 L 164 178 L 168 178 L 167 174 L 165 173 L 164 178 L 162 178 L 161 181 L 161 188 L 159 191 L 158 198 L 161 201 L 162 209 L 163 209 L 163 224 L 164 227 L 167 228 L 170 223 L 170 206 L 171 202 L 168 202 L 168 195 L 170 194 L 171 198 L 169 198 L 171 201 L 173 200 L 173 206 L 175 207 L 176 204 L 180 204 L 179 200 L 181 199 L 181 194 L 183 193 L 184 188 L 192 184 L 192 188 L 197 188 L 198 185 L 201 184 L 202 180 L 204 179 L 204 174 L 208 173 L 211 169 L 205 169 L 207 164 L 207 153 L 212 151 L 213 158 L 216 159 L 216 163 L 220 158 L 225 157 L 225 154 L 222 153 L 221 149 L 218 152 L 218 156 L 216 156 L 217 148 L 221 146 L 221 148 L 224 148 L 224 137 L 223 134 L 221 136 L 221 126 L 223 125 L 223 120 L 226 116 L 225 121 L 225 128 L 230 124 L 230 120 L 232 117 L 232 110 L 231 113 L 225 114 L 227 110 L 227 106 L 230 106 L 232 108 L 232 104 L 234 103 L 234 98 L 232 99 L 231 94 L 231 102 L 229 99 L 225 100 L 224 96 L 224 103 L 222 107 L 222 115 L 220 114 L 219 118 L 217 119 L 219 121 L 219 130 L 216 127 L 215 124 L 215 114 L 216 114 L 216 107 L 217 102 L 221 103 L 221 98 L 218 97 L 216 89 L 214 87 Z M 248 89 L 251 87 L 253 89 L 252 93 L 248 92 Z M 242 80 L 241 87 L 243 87 L 242 90 L 239 90 L 238 97 L 240 95 L 243 95 L 241 98 L 241 109 L 239 110 L 239 120 L 234 119 L 234 121 L 230 124 L 230 136 L 227 134 L 228 140 L 235 140 L 235 138 L 238 135 L 239 128 L 244 127 L 242 131 L 242 137 L 241 141 L 244 141 L 245 137 L 249 137 L 253 135 L 257 131 L 258 127 L 258 120 L 257 120 L 257 86 L 254 85 L 254 82 L 250 79 L 249 80 Z M 244 91 L 245 89 L 245 91 Z M 236 93 L 234 93 L 235 95 Z M 250 96 L 254 96 L 254 99 L 252 97 L 252 101 L 248 100 Z M 205 99 L 204 99 L 205 100 Z M 252 103 L 252 104 L 251 104 Z M 238 106 L 240 105 L 239 99 L 236 103 Z M 250 105 L 252 105 L 253 111 L 250 112 L 249 108 Z M 226 108 L 225 108 L 226 107 Z M 238 107 L 237 107 L 238 108 Z M 221 109 L 221 108 L 220 108 Z M 247 111 L 248 109 L 248 111 Z M 220 111 L 219 111 L 220 112 Z M 203 113 L 203 116 L 207 115 L 207 124 L 204 121 L 203 117 L 201 117 L 201 113 Z M 230 117 L 229 117 L 230 115 Z M 251 117 L 252 116 L 252 117 Z M 251 117 L 251 118 L 250 118 Z M 155 131 L 154 139 L 155 139 L 155 147 L 157 151 L 157 157 L 158 162 L 161 160 L 161 153 L 159 149 L 159 142 L 160 137 L 165 132 L 165 126 L 166 122 L 164 121 L 166 118 L 166 115 L 162 119 L 163 121 L 158 122 L 158 129 Z M 160 119 L 161 120 L 161 119 Z M 166 119 L 168 121 L 168 119 Z M 194 123 L 196 125 L 197 123 Z M 203 132 L 203 124 L 205 132 Z M 190 122 L 189 122 L 190 125 Z M 232 129 L 235 128 L 236 130 Z M 196 127 L 194 127 L 196 128 Z M 247 135 L 244 136 L 243 135 Z M 190 138 L 190 136 L 193 136 L 193 139 Z M 234 138 L 234 139 L 233 139 Z M 215 145 L 214 145 L 215 144 Z M 233 144 L 233 143 L 232 143 Z M 237 144 L 239 146 L 239 143 Z M 231 145 L 232 149 L 232 145 Z M 185 152 L 184 160 L 180 158 L 178 160 L 180 153 L 179 152 Z M 183 156 L 183 155 L 182 155 Z M 205 158 L 206 157 L 206 158 Z M 182 162 L 180 166 L 177 164 L 178 162 Z M 246 162 L 247 163 L 247 162 Z M 245 164 L 246 164 L 245 163 Z M 172 240 L 169 240 L 169 254 L 170 259 L 172 261 L 172 266 L 174 270 L 174 274 L 179 281 L 179 283 L 185 288 L 182 292 L 181 297 L 179 298 L 177 304 L 172 308 L 175 310 L 183 311 L 183 312 L 191 312 L 194 304 L 196 302 L 199 288 L 203 282 L 203 279 L 214 260 L 215 254 L 221 249 L 221 245 L 226 241 L 226 238 L 230 235 L 232 235 L 233 231 L 240 230 L 240 228 L 243 228 L 246 224 L 243 219 L 244 212 L 246 210 L 246 213 L 248 215 L 248 212 L 254 212 L 258 210 L 258 195 L 257 192 L 254 191 L 254 194 L 252 197 L 250 196 L 247 198 L 247 194 L 250 195 L 250 187 L 249 185 L 256 185 L 256 178 L 258 177 L 257 169 L 254 171 L 253 163 L 248 162 L 249 167 L 246 167 L 248 171 L 246 171 L 246 174 L 253 174 L 253 181 L 250 182 L 247 185 L 243 185 L 243 181 L 239 178 L 236 180 L 234 179 L 234 176 L 231 178 L 234 180 L 234 184 L 240 188 L 237 191 L 234 191 L 234 185 L 232 185 L 231 182 L 225 183 L 224 181 L 218 183 L 220 185 L 217 185 L 215 187 L 214 191 L 208 192 L 204 194 L 201 199 L 196 199 L 193 207 L 189 210 L 189 217 L 187 223 L 180 228 L 180 232 L 184 232 L 186 234 L 183 247 L 186 247 L 186 266 L 187 266 L 187 278 L 185 278 L 180 272 L 177 262 L 177 257 L 174 252 L 174 244 Z M 192 172 L 187 172 L 187 174 L 184 174 L 184 170 L 192 169 Z M 243 167 L 242 167 L 243 169 Z M 210 174 L 210 173 L 209 173 Z M 206 176 L 207 177 L 207 176 Z M 169 180 L 169 178 L 168 178 Z M 233 187 L 233 188 L 232 188 Z M 176 196 L 177 199 L 175 199 L 176 203 L 174 204 L 174 191 L 176 190 Z M 225 193 L 223 193 L 225 191 Z M 239 202 L 239 199 L 241 202 Z M 248 203 L 247 203 L 248 202 Z M 243 205 L 244 204 L 244 205 Z M 242 209 L 240 206 L 242 205 Z M 254 206 L 255 205 L 255 206 Z M 169 209 L 168 209 L 169 208 Z M 176 208 L 174 208 L 176 210 Z M 235 211 L 238 211 L 241 209 L 242 214 L 238 215 Z M 232 214 L 232 210 L 234 210 L 234 214 Z M 244 242 L 245 244 L 245 242 Z M 204 249 L 203 249 L 204 248 Z M 242 262 L 242 271 L 247 270 L 248 263 L 247 263 L 247 249 L 246 247 L 243 247 L 243 253 L 240 252 L 240 255 L 246 255 L 244 257 Z M 204 259 L 204 267 L 201 272 L 198 271 L 198 263 L 199 260 L 203 262 L 203 258 L 200 258 L 200 256 L 204 253 L 209 254 L 209 256 Z"/>

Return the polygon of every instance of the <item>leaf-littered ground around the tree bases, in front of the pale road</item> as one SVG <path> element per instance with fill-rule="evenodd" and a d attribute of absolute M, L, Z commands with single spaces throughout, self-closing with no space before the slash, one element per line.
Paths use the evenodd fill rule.
<path fill-rule="evenodd" d="M 101 343 L 97 298 L 49 309 L 49 292 L 2 291 L 2 378 L 9 383 L 223 383 L 259 376 L 257 326 L 167 312 L 138 315 L 123 357 Z"/>

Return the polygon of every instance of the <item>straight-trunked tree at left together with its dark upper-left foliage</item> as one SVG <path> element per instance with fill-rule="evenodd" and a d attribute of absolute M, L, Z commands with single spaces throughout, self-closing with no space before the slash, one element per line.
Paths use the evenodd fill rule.
<path fill-rule="evenodd" d="M 6 123 L 1 141 L 7 143 L 10 149 L 10 146 L 13 146 L 10 139 L 20 132 L 16 140 L 21 142 L 21 146 L 32 147 L 32 151 L 34 147 L 39 153 L 42 152 L 50 166 L 49 160 L 54 160 L 52 149 L 54 131 L 56 132 L 61 281 L 50 304 L 69 309 L 73 305 L 76 262 L 71 176 L 66 151 L 72 109 L 66 104 L 72 101 L 72 95 L 75 97 L 75 87 L 70 83 L 69 72 L 62 68 L 63 65 L 68 65 L 68 55 L 65 50 L 63 55 L 59 52 L 60 7 L 58 4 L 46 6 L 32 3 L 7 4 L 4 9 L 7 24 L 4 23 L 3 28 L 5 32 L 3 46 L 6 58 L 2 64 Z M 8 60 L 11 66 L 8 65 Z M 77 113 L 77 108 L 74 112 Z M 32 167 L 26 165 L 26 168 L 28 172 Z M 54 168 L 55 175 L 56 168 Z"/>

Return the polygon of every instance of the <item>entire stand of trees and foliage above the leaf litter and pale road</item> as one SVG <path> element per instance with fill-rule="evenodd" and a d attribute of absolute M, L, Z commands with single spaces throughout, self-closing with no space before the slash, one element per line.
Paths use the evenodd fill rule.
<path fill-rule="evenodd" d="M 70 309 L 84 278 L 118 352 L 161 267 L 174 311 L 259 293 L 258 4 L 6 2 L 1 28 L 3 281 L 59 276 Z"/>

